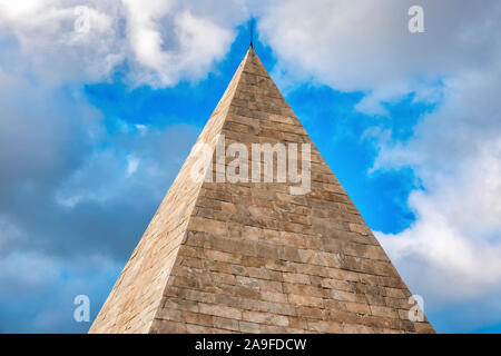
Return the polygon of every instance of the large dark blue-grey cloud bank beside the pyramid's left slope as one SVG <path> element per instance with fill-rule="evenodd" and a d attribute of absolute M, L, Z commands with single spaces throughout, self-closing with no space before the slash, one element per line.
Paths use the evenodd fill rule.
<path fill-rule="evenodd" d="M 89 295 L 96 315 L 197 136 L 109 132 L 116 118 L 63 91 L 0 83 L 1 330 L 86 332 L 72 298 Z"/>

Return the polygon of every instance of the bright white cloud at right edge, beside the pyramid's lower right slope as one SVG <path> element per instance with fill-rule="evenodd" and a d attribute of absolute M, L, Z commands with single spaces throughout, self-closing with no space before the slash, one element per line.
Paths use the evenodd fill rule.
<path fill-rule="evenodd" d="M 410 166 L 426 188 L 409 199 L 418 220 L 399 236 L 380 238 L 397 260 L 421 260 L 419 271 L 410 271 L 420 288 L 432 276 L 453 281 L 440 294 L 430 289 L 441 301 L 500 293 L 499 78 L 493 70 L 445 80 L 448 99 L 410 140 L 380 142 L 375 169 Z"/>

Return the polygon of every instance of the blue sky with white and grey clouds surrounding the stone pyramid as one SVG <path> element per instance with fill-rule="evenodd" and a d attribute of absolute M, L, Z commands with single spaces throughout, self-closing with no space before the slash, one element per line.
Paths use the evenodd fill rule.
<path fill-rule="evenodd" d="M 407 11 L 423 8 L 424 32 Z M 439 333 L 501 332 L 501 3 L 0 0 L 0 332 L 85 333 L 248 47 Z"/>

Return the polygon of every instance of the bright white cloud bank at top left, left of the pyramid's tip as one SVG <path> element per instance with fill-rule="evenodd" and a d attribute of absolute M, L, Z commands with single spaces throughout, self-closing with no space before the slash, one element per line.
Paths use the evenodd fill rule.
<path fill-rule="evenodd" d="M 106 80 L 126 63 L 132 85 L 166 87 L 213 70 L 246 13 L 239 1 L 0 0 L 0 40 L 16 43 L 6 62 L 45 83 Z"/>

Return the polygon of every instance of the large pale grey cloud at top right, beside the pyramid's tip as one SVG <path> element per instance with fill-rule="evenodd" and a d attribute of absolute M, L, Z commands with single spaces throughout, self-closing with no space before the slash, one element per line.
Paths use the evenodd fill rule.
<path fill-rule="evenodd" d="M 362 90 L 360 108 L 384 113 L 381 101 L 409 91 L 429 93 L 430 85 L 464 70 L 492 66 L 500 30 L 495 1 L 419 1 L 424 33 L 407 30 L 404 0 L 292 0 L 256 7 L 259 36 L 278 56 L 278 69 L 299 81 L 337 90 Z M 488 19 L 488 20 L 485 20 Z"/>

